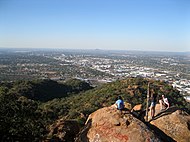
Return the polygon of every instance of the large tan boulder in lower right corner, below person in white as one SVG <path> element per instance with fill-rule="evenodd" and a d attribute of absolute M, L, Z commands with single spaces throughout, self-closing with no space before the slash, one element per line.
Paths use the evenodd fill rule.
<path fill-rule="evenodd" d="M 177 142 L 190 142 L 190 116 L 176 107 L 158 113 L 150 123 Z"/>

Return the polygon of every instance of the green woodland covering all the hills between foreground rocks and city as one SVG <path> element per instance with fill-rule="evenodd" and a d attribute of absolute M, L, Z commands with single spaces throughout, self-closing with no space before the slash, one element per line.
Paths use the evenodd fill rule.
<path fill-rule="evenodd" d="M 71 79 L 64 83 L 52 80 L 2 82 L 0 84 L 1 141 L 39 141 L 47 137 L 47 127 L 58 118 L 75 119 L 84 125 L 95 110 L 112 105 L 121 95 L 133 106 L 146 106 L 148 82 L 150 92 L 162 94 L 171 105 L 190 112 L 190 104 L 181 94 L 162 81 L 127 78 L 91 87 L 88 83 Z"/>

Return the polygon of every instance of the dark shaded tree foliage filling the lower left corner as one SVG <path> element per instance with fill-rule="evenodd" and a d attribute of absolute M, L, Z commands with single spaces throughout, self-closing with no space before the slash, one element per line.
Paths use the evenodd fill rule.
<path fill-rule="evenodd" d="M 38 141 L 43 137 L 45 127 L 35 101 L 1 89 L 0 107 L 1 141 Z"/>

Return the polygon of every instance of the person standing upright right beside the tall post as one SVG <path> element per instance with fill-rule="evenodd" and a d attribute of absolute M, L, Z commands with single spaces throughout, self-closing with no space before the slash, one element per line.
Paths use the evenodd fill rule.
<path fill-rule="evenodd" d="M 157 95 L 154 92 L 154 90 L 151 91 L 151 97 L 150 97 L 150 115 L 151 115 L 151 119 L 154 117 L 155 115 L 155 107 L 156 107 L 156 98 Z"/>

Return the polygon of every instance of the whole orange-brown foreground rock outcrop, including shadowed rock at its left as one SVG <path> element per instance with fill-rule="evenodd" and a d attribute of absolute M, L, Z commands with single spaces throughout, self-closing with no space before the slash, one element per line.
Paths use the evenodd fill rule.
<path fill-rule="evenodd" d="M 138 110 L 142 110 L 140 105 L 134 109 Z M 76 121 L 59 119 L 49 127 L 47 141 L 190 142 L 190 116 L 177 107 L 160 111 L 157 105 L 156 116 L 147 123 L 132 114 L 129 109 L 120 112 L 114 105 L 104 107 L 88 117 L 80 132 Z"/>

